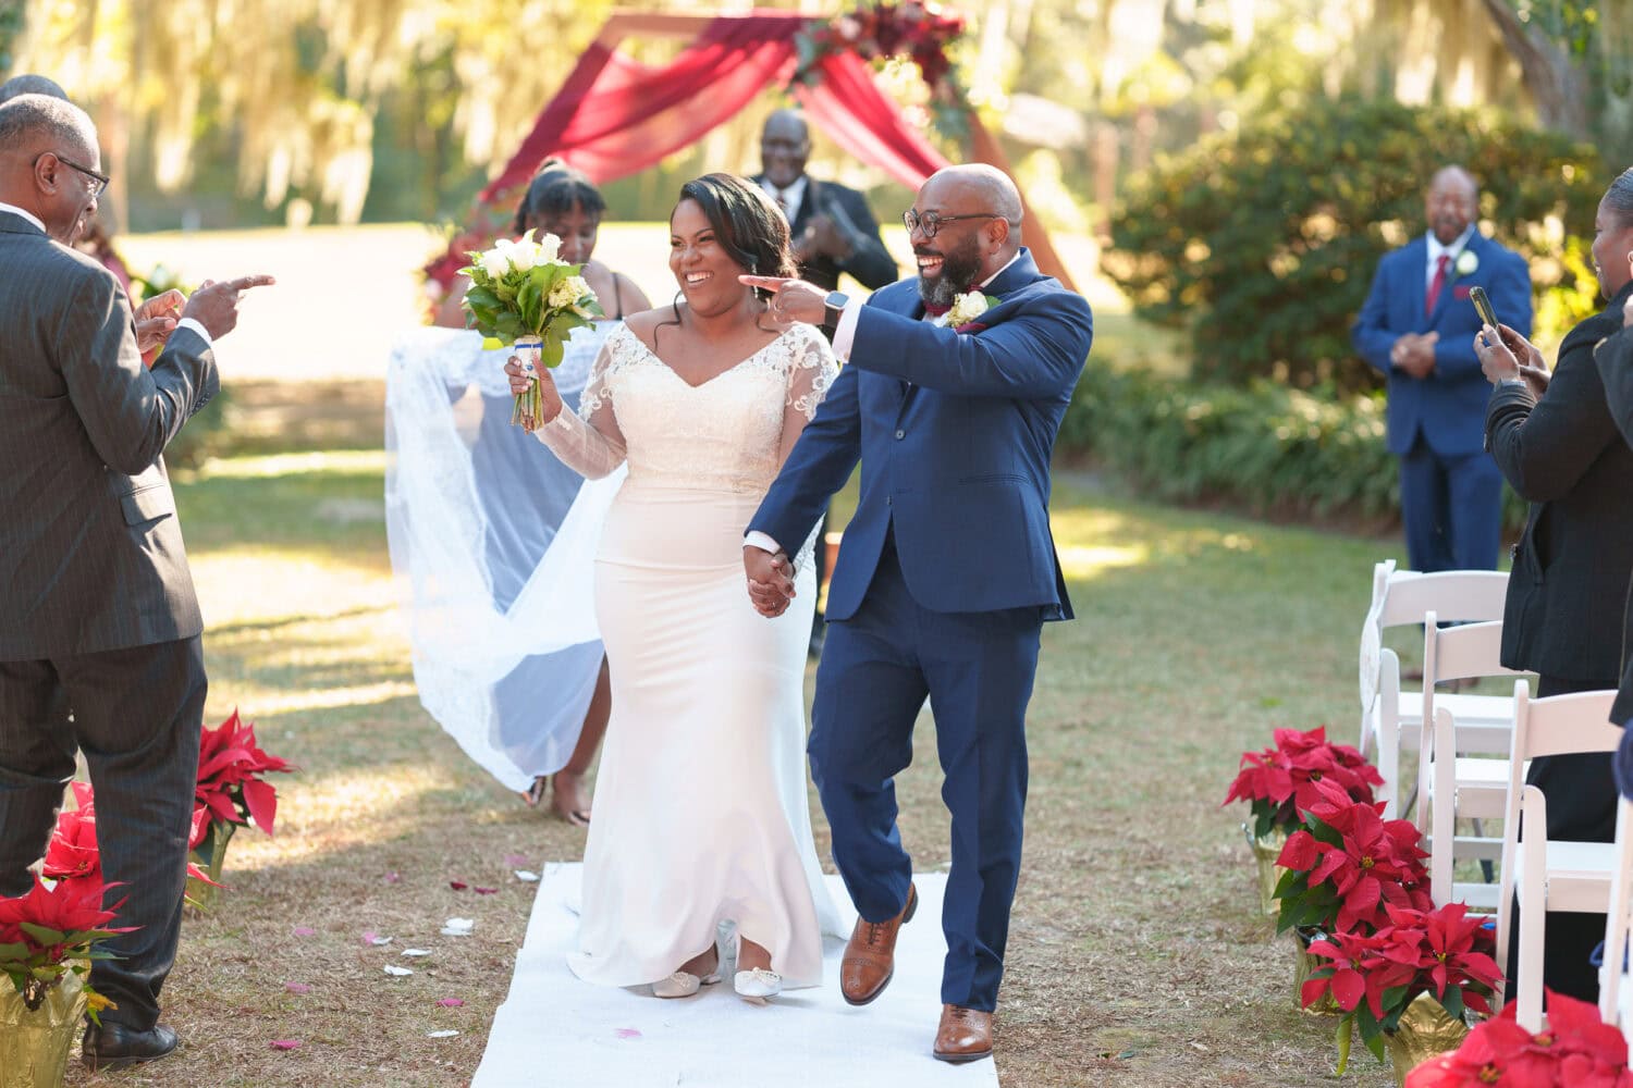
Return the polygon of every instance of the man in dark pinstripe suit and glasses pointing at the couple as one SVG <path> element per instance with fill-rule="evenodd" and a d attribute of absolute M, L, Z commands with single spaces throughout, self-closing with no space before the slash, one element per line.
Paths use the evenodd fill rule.
<path fill-rule="evenodd" d="M 0 894 L 26 892 L 83 750 L 103 876 L 124 899 L 93 969 L 118 1008 L 93 1068 L 162 1057 L 204 713 L 202 621 L 160 453 L 217 391 L 238 292 L 206 284 L 152 369 L 118 281 L 70 246 L 108 183 L 96 129 L 44 95 L 0 104 Z M 144 323 L 144 328 L 150 328 Z"/>

